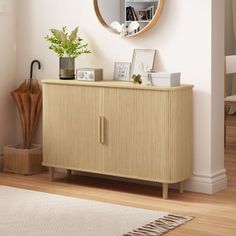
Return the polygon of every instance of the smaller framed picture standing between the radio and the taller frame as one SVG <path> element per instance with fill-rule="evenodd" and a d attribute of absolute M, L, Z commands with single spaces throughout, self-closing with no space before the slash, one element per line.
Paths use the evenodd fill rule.
<path fill-rule="evenodd" d="M 115 62 L 114 80 L 129 81 L 130 65 L 128 62 Z"/>

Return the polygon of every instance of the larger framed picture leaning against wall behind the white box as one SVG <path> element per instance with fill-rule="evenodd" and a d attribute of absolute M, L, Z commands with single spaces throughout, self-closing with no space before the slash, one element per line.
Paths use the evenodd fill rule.
<path fill-rule="evenodd" d="M 155 56 L 155 49 L 134 49 L 131 64 L 131 76 L 134 74 L 142 75 L 151 71 L 154 66 Z"/>

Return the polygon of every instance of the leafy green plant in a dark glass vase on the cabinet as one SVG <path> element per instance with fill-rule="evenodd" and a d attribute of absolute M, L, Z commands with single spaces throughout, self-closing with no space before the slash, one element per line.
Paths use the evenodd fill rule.
<path fill-rule="evenodd" d="M 78 27 L 70 34 L 66 26 L 61 30 L 50 29 L 50 32 L 52 35 L 47 35 L 45 39 L 51 43 L 49 49 L 59 57 L 60 79 L 75 79 L 75 58 L 91 53 L 88 44 L 83 43 L 83 39 L 79 37 Z"/>

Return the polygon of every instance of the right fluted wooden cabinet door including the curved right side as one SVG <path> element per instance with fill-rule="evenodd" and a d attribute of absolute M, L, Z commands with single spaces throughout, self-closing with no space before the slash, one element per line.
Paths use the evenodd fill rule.
<path fill-rule="evenodd" d="M 192 89 L 107 88 L 104 172 L 162 183 L 192 174 Z"/>

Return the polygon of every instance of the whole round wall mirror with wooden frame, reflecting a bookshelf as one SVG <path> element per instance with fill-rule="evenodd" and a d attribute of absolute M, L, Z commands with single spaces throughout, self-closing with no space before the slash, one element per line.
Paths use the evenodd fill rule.
<path fill-rule="evenodd" d="M 98 20 L 124 37 L 151 29 L 161 16 L 164 0 L 94 0 Z"/>

